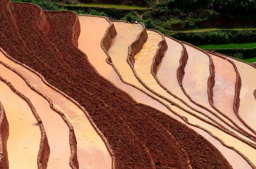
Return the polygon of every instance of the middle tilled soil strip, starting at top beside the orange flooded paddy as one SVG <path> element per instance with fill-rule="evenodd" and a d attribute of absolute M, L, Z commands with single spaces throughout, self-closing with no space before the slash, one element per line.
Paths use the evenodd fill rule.
<path fill-rule="evenodd" d="M 76 76 L 82 75 L 81 83 L 84 82 L 84 85 L 81 86 L 83 89 L 99 97 L 111 109 L 115 110 L 113 113 L 119 115 L 128 124 L 136 137 L 147 146 L 156 166 L 186 168 L 186 153 L 176 145 L 172 135 L 169 135 L 168 132 L 163 130 L 153 119 L 144 115 L 140 109 L 136 109 L 131 104 L 135 102 L 128 95 L 114 87 L 109 81 L 102 78 L 102 76 L 99 76 L 96 70 L 90 65 L 87 56 L 73 45 L 72 28 L 77 16 L 70 12 L 65 14 L 51 13 L 51 15 L 46 13 L 46 15 L 51 25 L 47 37 L 56 45 L 64 61 L 68 63 L 70 68 L 76 71 Z M 70 19 L 68 20 L 68 18 Z M 64 22 L 67 22 L 66 32 L 61 30 Z M 62 41 L 58 36 L 61 37 L 60 39 Z M 66 43 L 64 44 L 63 42 Z M 91 113 L 88 109 L 87 111 Z M 95 116 L 94 114 L 91 115 Z M 162 147 L 162 149 L 158 147 Z"/>

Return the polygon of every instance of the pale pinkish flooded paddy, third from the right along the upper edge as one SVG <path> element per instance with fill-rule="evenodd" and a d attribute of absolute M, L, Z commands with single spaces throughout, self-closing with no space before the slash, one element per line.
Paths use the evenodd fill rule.
<path fill-rule="evenodd" d="M 186 90 L 186 93 L 198 104 L 201 104 L 207 107 L 209 110 L 212 110 L 214 113 L 219 115 L 222 119 L 227 121 L 230 125 L 234 126 L 230 121 L 228 121 L 224 116 L 214 110 L 209 104 L 208 100 L 208 78 L 209 78 L 209 57 L 198 49 L 193 48 L 192 46 L 186 45 L 186 50 L 189 54 L 189 59 L 185 67 L 185 75 L 183 78 L 183 87 Z M 208 115 L 212 116 L 211 113 Z M 214 117 L 215 118 L 215 117 Z M 217 118 L 217 121 L 220 122 Z M 223 122 L 220 122 L 223 124 Z M 226 126 L 226 124 L 224 124 Z M 250 139 L 240 135 L 235 130 L 228 127 L 231 131 L 235 132 L 237 135 L 242 138 L 251 141 Z"/>

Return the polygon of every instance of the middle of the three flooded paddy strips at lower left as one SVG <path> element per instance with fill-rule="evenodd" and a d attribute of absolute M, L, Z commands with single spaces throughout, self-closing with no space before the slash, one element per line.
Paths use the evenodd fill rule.
<path fill-rule="evenodd" d="M 51 149 L 48 161 L 48 168 L 69 169 L 69 159 L 71 155 L 69 144 L 69 129 L 60 115 L 53 111 L 46 99 L 30 89 L 23 79 L 3 65 L 0 71 L 1 76 L 7 79 L 20 93 L 25 95 L 34 105 L 35 110 L 44 124 L 48 143 Z"/>

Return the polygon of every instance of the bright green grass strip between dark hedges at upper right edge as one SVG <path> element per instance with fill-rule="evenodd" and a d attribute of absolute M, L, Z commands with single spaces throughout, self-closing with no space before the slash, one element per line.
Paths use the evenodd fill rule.
<path fill-rule="evenodd" d="M 199 45 L 201 49 L 256 48 L 256 43 L 230 43 L 225 45 Z"/>

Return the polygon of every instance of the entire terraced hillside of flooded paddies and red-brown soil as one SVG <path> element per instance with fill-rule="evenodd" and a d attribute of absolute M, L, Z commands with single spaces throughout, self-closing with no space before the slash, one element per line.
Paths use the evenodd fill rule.
<path fill-rule="evenodd" d="M 256 66 L 141 23 L 0 0 L 1 169 L 256 169 Z"/>

